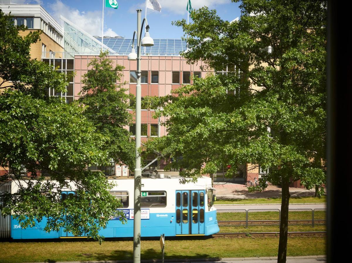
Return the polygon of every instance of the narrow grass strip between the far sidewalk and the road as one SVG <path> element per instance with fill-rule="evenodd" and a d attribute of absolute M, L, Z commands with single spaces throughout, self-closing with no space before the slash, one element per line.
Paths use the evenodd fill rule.
<path fill-rule="evenodd" d="M 252 198 L 252 199 L 226 199 L 216 200 L 218 204 L 281 204 L 281 197 L 277 198 Z M 291 197 L 290 203 L 326 203 L 326 196 L 322 197 Z"/>

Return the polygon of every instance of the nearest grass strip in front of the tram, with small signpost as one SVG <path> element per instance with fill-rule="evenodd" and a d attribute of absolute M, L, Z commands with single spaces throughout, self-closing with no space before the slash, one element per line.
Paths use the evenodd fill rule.
<path fill-rule="evenodd" d="M 165 238 L 165 259 L 277 255 L 278 237 Z M 325 255 L 325 238 L 291 237 L 287 256 Z M 158 240 L 142 241 L 142 259 L 161 259 Z M 0 262 L 108 261 L 132 259 L 132 241 L 2 242 Z"/>

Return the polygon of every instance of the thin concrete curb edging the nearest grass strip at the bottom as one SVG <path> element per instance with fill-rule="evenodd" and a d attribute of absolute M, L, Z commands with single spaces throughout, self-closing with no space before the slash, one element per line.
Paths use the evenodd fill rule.
<path fill-rule="evenodd" d="M 319 256 L 298 256 L 298 257 L 286 257 L 287 259 L 303 259 L 303 258 L 326 258 L 324 255 Z M 248 261 L 248 260 L 271 260 L 276 261 L 277 257 L 226 257 L 226 258 L 183 258 L 183 259 L 165 259 L 165 262 L 226 262 L 226 261 Z M 130 263 L 132 260 L 107 260 L 107 261 L 57 261 L 55 263 Z M 161 262 L 161 259 L 148 259 L 141 260 L 143 263 L 156 263 Z M 46 262 L 36 262 L 46 263 Z"/>

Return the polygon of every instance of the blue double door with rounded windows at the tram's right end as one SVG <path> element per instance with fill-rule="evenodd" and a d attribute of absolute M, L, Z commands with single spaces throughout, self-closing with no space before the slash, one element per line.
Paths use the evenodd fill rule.
<path fill-rule="evenodd" d="M 204 190 L 176 191 L 176 235 L 204 234 Z"/>

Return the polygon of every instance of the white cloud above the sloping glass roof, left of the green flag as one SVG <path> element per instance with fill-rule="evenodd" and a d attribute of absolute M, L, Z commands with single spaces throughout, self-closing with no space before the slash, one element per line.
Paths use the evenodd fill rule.
<path fill-rule="evenodd" d="M 101 11 L 79 11 L 76 8 L 65 5 L 60 0 L 56 0 L 51 4 L 50 9 L 52 10 L 51 15 L 56 21 L 59 21 L 60 15 L 63 15 L 63 17 L 72 21 L 89 34 L 101 36 Z M 115 37 L 118 34 L 108 28 L 105 30 L 104 35 Z"/>

